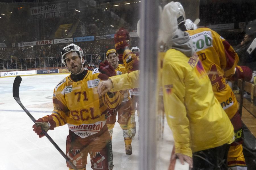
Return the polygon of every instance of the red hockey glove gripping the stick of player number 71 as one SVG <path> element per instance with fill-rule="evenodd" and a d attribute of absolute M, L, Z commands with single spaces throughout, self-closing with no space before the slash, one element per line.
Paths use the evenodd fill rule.
<path fill-rule="evenodd" d="M 36 120 L 35 124 L 32 126 L 33 131 L 40 138 L 44 136 L 44 133 L 42 132 L 42 128 L 44 129 L 44 131 L 47 132 L 49 129 L 54 130 L 55 127 L 56 127 L 56 123 L 53 121 L 53 117 L 49 115 Z"/>

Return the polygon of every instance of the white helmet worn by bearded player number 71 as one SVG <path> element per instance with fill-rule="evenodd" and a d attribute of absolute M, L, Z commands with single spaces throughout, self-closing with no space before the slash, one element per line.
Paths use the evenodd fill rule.
<path fill-rule="evenodd" d="M 80 48 L 78 45 L 76 44 L 69 44 L 68 46 L 65 46 L 62 51 L 61 51 L 61 61 L 62 63 L 66 66 L 66 62 L 65 62 L 65 55 L 69 52 L 75 51 L 78 53 L 78 55 L 81 58 L 81 63 L 84 64 L 84 62 L 82 62 L 82 58 L 84 59 L 84 52 L 82 50 L 82 48 Z"/>

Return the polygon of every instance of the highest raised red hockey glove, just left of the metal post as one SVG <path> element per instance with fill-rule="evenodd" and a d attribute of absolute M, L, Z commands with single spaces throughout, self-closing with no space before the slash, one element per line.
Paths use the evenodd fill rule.
<path fill-rule="evenodd" d="M 120 28 L 114 35 L 115 49 L 118 50 L 120 48 L 125 48 L 126 46 L 128 46 L 126 40 L 129 40 L 129 37 L 129 32 L 126 31 L 123 27 Z"/>

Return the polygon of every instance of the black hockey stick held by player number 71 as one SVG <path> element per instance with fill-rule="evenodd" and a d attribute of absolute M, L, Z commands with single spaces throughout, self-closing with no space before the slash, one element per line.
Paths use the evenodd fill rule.
<path fill-rule="evenodd" d="M 20 107 L 26 112 L 26 114 L 28 115 L 28 117 L 35 123 L 36 119 L 30 114 L 30 112 L 23 106 L 23 104 L 20 101 L 20 95 L 19 95 L 19 91 L 20 91 L 20 83 L 21 83 L 22 78 L 20 76 L 16 76 L 15 80 L 13 82 L 13 97 L 16 100 L 16 102 L 20 105 Z M 65 158 L 65 160 L 71 165 L 71 167 L 75 170 L 77 170 L 77 168 L 75 167 L 75 165 L 70 162 L 69 158 L 67 157 L 66 154 L 64 154 L 64 152 L 61 150 L 61 148 L 59 148 L 59 146 L 53 141 L 53 139 L 51 139 L 51 137 L 48 135 L 48 133 L 46 131 L 44 131 L 44 129 L 42 129 L 44 135 L 49 139 L 49 141 L 53 144 L 53 146 L 59 151 L 59 153 Z"/>

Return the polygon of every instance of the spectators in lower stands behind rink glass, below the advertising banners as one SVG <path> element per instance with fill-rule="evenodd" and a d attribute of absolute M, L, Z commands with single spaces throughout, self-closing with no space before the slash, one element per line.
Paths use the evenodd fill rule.
<path fill-rule="evenodd" d="M 85 63 L 99 65 L 104 61 L 106 51 L 114 48 L 113 39 L 77 42 L 85 56 Z M 44 68 L 44 67 L 64 67 L 61 63 L 61 50 L 67 44 L 51 44 L 25 48 L 0 48 L 0 70 L 1 69 L 21 69 L 21 68 Z M 139 38 L 130 38 L 130 46 L 138 46 Z M 16 64 L 20 63 L 20 64 Z M 11 64 L 12 63 L 12 64 Z"/>

